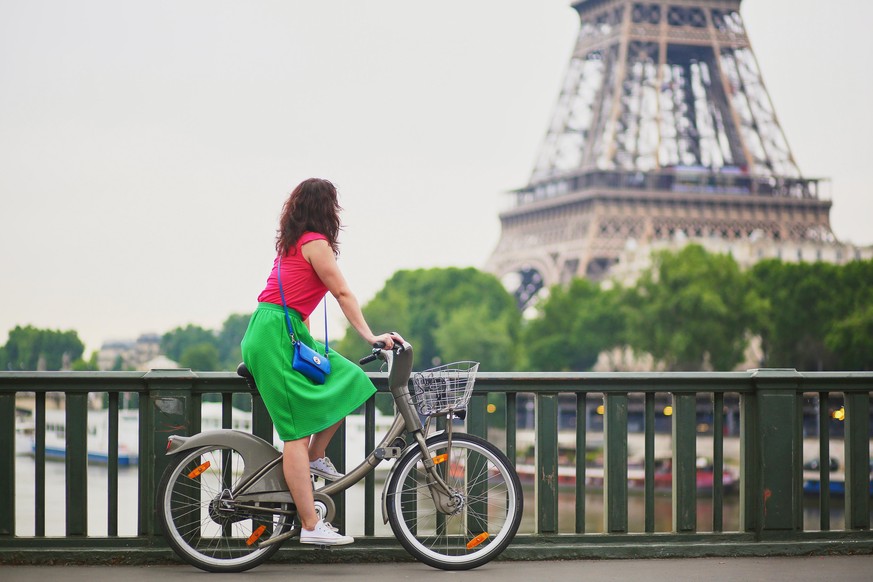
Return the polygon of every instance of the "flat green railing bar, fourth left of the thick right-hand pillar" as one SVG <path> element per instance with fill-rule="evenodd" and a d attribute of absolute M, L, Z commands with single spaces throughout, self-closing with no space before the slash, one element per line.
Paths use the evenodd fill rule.
<path fill-rule="evenodd" d="M 627 533 L 627 393 L 604 396 L 603 529 Z"/>

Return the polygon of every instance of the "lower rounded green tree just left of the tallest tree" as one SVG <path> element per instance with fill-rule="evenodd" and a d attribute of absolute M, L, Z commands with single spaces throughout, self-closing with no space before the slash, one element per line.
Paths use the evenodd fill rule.
<path fill-rule="evenodd" d="M 600 352 L 624 343 L 622 295 L 587 279 L 553 287 L 523 332 L 526 369 L 590 370 Z"/>

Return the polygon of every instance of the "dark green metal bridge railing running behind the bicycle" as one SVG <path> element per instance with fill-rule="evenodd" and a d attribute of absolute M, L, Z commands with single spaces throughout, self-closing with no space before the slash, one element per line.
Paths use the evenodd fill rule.
<path fill-rule="evenodd" d="M 384 374 L 372 374 L 380 393 L 387 391 Z M 873 552 L 870 504 L 870 445 L 873 373 L 798 373 L 764 369 L 729 373 L 482 373 L 470 401 L 466 430 L 502 444 L 508 456 L 533 465 L 532 503 L 525 513 L 534 516 L 528 531 L 517 536 L 506 551 L 508 559 L 572 557 L 664 557 L 700 555 L 808 554 L 817 552 Z M 46 535 L 46 513 L 54 500 L 46 499 L 46 409 L 52 397 L 62 393 L 65 407 L 65 535 Z M 105 395 L 109 415 L 109 458 L 106 499 L 108 532 L 88 536 L 88 445 L 89 395 Z M 119 507 L 118 442 L 122 395 L 139 398 L 138 506 Z M 155 488 L 166 466 L 163 451 L 171 434 L 200 430 L 201 404 L 207 394 L 222 401 L 222 423 L 231 426 L 234 395 L 248 394 L 243 381 L 231 373 L 193 373 L 189 370 L 142 372 L 0 372 L 0 562 L 39 562 L 64 556 L 70 561 L 102 560 L 142 562 L 171 559 L 155 517 Z M 33 535 L 16 535 L 15 418 L 16 399 L 32 395 L 35 418 L 35 472 Z M 377 395 L 378 396 L 378 395 Z M 239 398 L 239 396 L 236 396 Z M 567 410 L 568 402 L 571 410 Z M 829 414 L 839 402 L 839 421 L 844 428 L 845 494 L 844 523 L 831 523 L 835 495 L 828 463 L 819 463 L 818 528 L 804 527 L 803 483 L 805 418 L 810 407 L 817 410 L 817 454 L 829 459 L 834 439 L 830 437 Z M 670 425 L 671 527 L 656 530 L 656 431 L 665 403 L 672 411 Z M 495 406 L 496 404 L 496 406 Z M 730 404 L 730 406 L 728 405 Z M 519 411 L 533 406 L 533 458 L 519 450 L 522 433 Z M 252 432 L 272 438 L 272 424 L 260 398 L 252 401 Z M 573 410 L 575 407 L 575 410 Z M 713 485 L 711 531 L 701 531 L 698 515 L 697 459 L 699 413 L 708 411 L 711 424 Z M 495 414 L 496 411 L 500 413 Z M 589 419 L 596 410 L 602 430 Z M 375 405 L 367 403 L 366 446 L 375 445 Z M 736 437 L 725 437 L 726 418 L 738 416 Z M 570 417 L 576 462 L 568 463 L 559 446 Z M 633 423 L 629 419 L 633 418 Z M 563 419 L 559 421 L 559 419 Z M 641 419 L 641 422 L 640 422 Z M 641 424 L 642 432 L 636 433 Z M 731 424 L 735 424 L 731 420 Z M 808 424 L 808 423 L 807 423 Z M 642 491 L 629 489 L 629 434 L 642 442 Z M 342 470 L 345 459 L 344 432 L 334 439 L 329 454 Z M 724 531 L 727 495 L 726 438 L 739 443 L 739 520 L 734 531 Z M 808 441 L 808 435 L 806 440 Z M 707 445 L 709 446 L 709 445 Z M 595 449 L 602 465 L 585 462 L 585 452 Z M 570 484 L 559 469 L 571 469 Z M 521 464 L 519 464 L 521 469 Z M 594 473 L 602 475 L 602 483 Z M 563 531 L 559 515 L 566 513 L 567 488 L 571 489 L 574 527 Z M 381 516 L 376 483 L 365 482 L 364 505 L 349 508 L 338 503 L 343 524 L 347 511 L 363 511 L 364 537 L 353 546 L 331 553 L 332 559 L 405 559 L 399 544 L 376 535 L 375 520 Z M 629 526 L 628 507 L 633 497 L 643 497 L 642 531 Z M 602 496 L 603 523 L 589 532 L 586 501 Z M 562 499 L 559 503 L 559 499 Z M 808 497 L 807 497 L 808 499 Z M 119 514 L 137 513 L 134 536 L 118 535 Z M 709 516 L 707 516 L 709 517 Z M 28 524 L 29 525 L 29 524 Z M 373 552 L 378 552 L 374 554 Z M 294 560 L 318 560 L 318 553 L 302 552 L 287 544 L 278 554 Z"/>

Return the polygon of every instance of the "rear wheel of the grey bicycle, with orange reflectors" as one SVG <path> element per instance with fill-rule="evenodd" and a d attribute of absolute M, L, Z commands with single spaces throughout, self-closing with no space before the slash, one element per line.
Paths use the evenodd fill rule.
<path fill-rule="evenodd" d="M 158 487 L 158 521 L 183 560 L 207 572 L 242 572 L 262 564 L 281 543 L 258 543 L 287 531 L 290 503 L 237 507 L 231 492 L 244 469 L 239 451 L 208 446 L 180 453 Z"/>

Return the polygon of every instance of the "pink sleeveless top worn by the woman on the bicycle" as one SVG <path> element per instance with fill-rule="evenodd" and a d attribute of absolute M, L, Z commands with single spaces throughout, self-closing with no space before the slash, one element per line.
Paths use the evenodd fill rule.
<path fill-rule="evenodd" d="M 285 288 L 285 301 L 290 309 L 298 311 L 306 320 L 318 302 L 327 293 L 327 287 L 318 278 L 315 269 L 303 257 L 303 245 L 314 240 L 327 240 L 327 237 L 317 232 L 305 232 L 297 240 L 294 248 L 282 258 L 282 283 Z M 279 293 L 279 282 L 276 269 L 279 266 L 279 258 L 273 261 L 273 270 L 267 277 L 267 286 L 258 295 L 259 303 L 275 303 L 282 305 L 282 296 Z"/>

